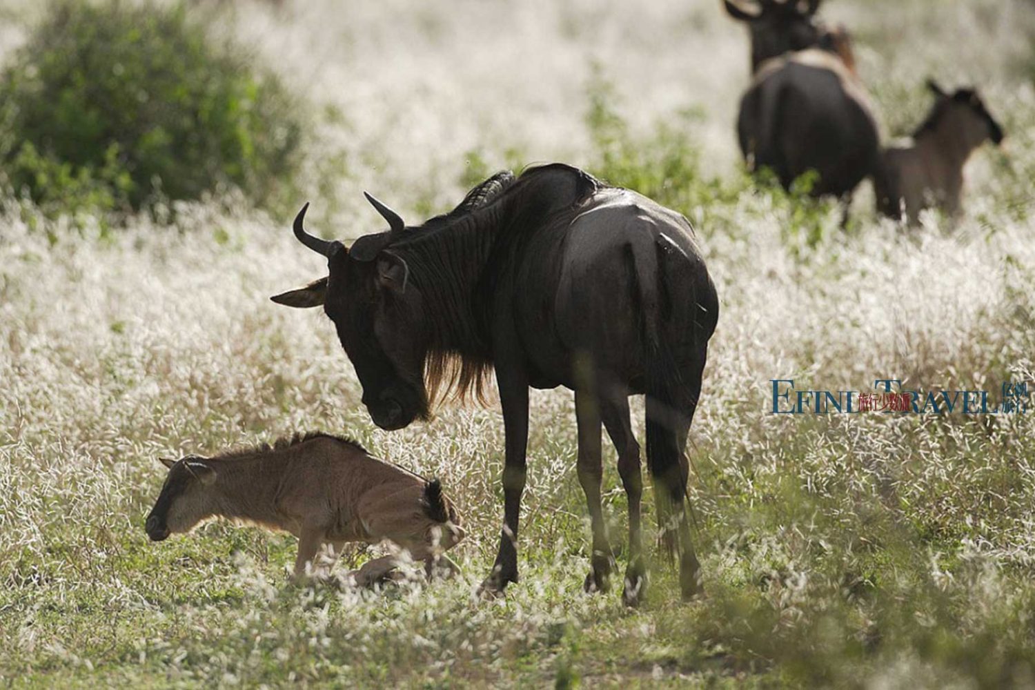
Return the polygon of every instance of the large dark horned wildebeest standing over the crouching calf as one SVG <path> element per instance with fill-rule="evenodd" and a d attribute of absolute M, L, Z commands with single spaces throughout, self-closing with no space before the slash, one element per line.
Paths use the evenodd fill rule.
<path fill-rule="evenodd" d="M 369 199 L 390 230 L 348 249 L 306 234 L 302 209 L 295 235 L 327 258 L 329 275 L 273 300 L 324 305 L 382 428 L 427 418 L 443 386 L 477 392 L 495 367 L 505 507 L 485 591 L 518 580 L 529 386 L 563 385 L 575 392 L 579 480 L 593 529 L 586 589 L 608 587 L 613 561 L 600 506 L 601 422 L 629 500 L 624 600 L 637 603 L 645 584 L 640 447 L 628 396 L 646 393 L 647 467 L 662 539 L 679 553 L 683 595 L 697 592 L 683 448 L 718 301 L 686 219 L 563 164 L 519 178 L 500 173 L 417 228 Z"/>

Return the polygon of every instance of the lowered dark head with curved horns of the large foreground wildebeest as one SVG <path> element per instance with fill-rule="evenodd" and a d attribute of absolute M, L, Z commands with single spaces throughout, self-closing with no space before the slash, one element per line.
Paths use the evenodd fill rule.
<path fill-rule="evenodd" d="M 327 258 L 328 275 L 270 299 L 293 307 L 323 305 L 363 387 L 363 404 L 374 423 L 398 429 L 428 416 L 424 360 L 430 337 L 420 290 L 410 281 L 406 261 L 389 248 L 414 231 L 369 194 L 389 230 L 356 240 L 350 248 L 305 232 L 306 204 L 294 232 L 309 249 Z"/>

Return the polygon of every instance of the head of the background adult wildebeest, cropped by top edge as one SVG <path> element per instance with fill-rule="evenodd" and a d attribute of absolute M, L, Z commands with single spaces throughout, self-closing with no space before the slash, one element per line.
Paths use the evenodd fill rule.
<path fill-rule="evenodd" d="M 821 0 L 723 0 L 726 10 L 751 34 L 751 71 L 770 58 L 811 48 L 823 29 L 815 14 Z"/>

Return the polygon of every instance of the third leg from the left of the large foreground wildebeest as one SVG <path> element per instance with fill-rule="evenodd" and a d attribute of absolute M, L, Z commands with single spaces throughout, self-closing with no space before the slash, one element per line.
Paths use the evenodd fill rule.
<path fill-rule="evenodd" d="M 601 398 L 600 417 L 608 436 L 618 451 L 618 475 L 622 478 L 629 501 L 629 562 L 625 568 L 622 601 L 635 606 L 642 601 L 647 587 L 643 558 L 643 523 L 640 501 L 643 497 L 643 474 L 640 464 L 640 444 L 629 422 L 629 400 L 624 392 Z"/>

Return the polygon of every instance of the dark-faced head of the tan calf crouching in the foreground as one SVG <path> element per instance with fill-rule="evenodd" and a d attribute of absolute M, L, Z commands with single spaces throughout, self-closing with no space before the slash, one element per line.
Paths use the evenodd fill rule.
<path fill-rule="evenodd" d="M 169 474 L 144 526 L 151 541 L 193 530 L 211 515 L 214 498 L 215 470 L 204 458 L 162 458 L 161 463 L 169 468 Z"/>

